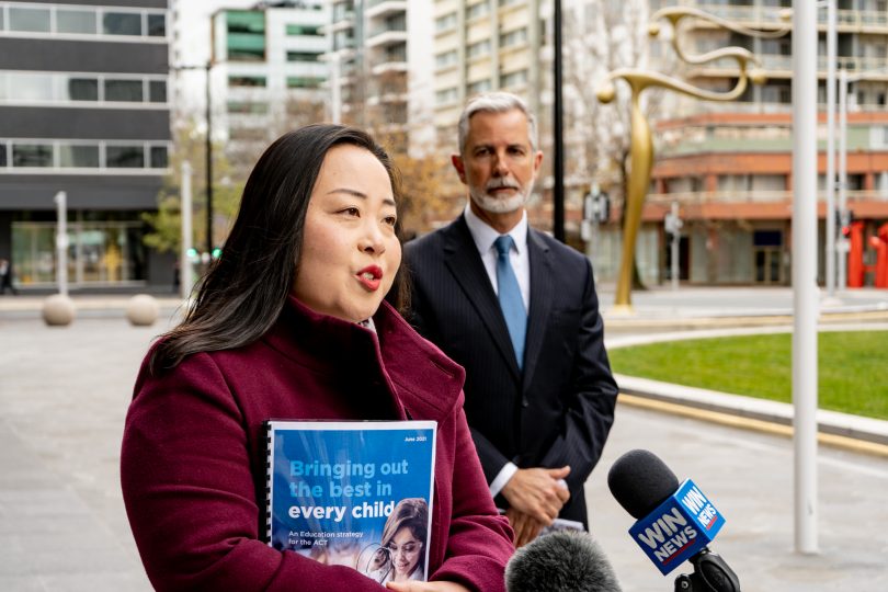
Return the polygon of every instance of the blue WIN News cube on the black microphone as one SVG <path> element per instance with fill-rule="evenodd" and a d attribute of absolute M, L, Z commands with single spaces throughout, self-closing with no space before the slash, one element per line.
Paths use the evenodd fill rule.
<path fill-rule="evenodd" d="M 706 547 L 725 517 L 691 479 L 656 510 L 636 522 L 629 535 L 665 576 Z"/>

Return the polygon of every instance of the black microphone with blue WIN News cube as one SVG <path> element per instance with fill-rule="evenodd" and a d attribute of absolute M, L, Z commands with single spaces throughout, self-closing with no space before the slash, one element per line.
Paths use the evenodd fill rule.
<path fill-rule="evenodd" d="M 692 480 L 679 483 L 657 455 L 636 449 L 617 458 L 607 487 L 638 520 L 629 534 L 664 576 L 684 560 L 694 566 L 675 579 L 676 591 L 740 592 L 737 574 L 707 547 L 725 519 Z"/>

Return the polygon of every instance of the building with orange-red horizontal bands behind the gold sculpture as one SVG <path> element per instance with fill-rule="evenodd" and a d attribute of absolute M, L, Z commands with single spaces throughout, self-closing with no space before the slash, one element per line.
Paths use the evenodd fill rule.
<path fill-rule="evenodd" d="M 665 2 L 654 2 L 654 4 Z M 789 0 L 670 1 L 748 27 L 772 27 Z M 652 7 L 654 8 L 654 7 Z M 827 172 L 827 12 L 819 13 L 820 280 L 824 281 Z M 847 206 L 866 235 L 888 220 L 888 2 L 839 0 L 838 69 L 861 80 L 849 87 Z M 788 284 L 792 237 L 792 32 L 751 38 L 703 21 L 682 26 L 690 53 L 742 46 L 762 60 L 766 82 L 736 102 L 678 99 L 656 122 L 657 159 L 639 255 L 648 278 L 663 280 L 669 248 L 663 217 L 680 204 L 684 228 L 680 277 L 693 284 Z M 668 46 L 660 52 L 671 50 Z M 699 88 L 725 91 L 737 67 L 717 61 L 686 72 Z M 838 116 L 836 116 L 838 121 Z M 836 141 L 838 146 L 838 141 Z M 838 192 L 836 192 L 838 195 Z M 836 227 L 840 225 L 836 225 Z M 852 253 L 872 264 L 875 251 Z M 844 257 L 844 255 L 843 255 Z"/>

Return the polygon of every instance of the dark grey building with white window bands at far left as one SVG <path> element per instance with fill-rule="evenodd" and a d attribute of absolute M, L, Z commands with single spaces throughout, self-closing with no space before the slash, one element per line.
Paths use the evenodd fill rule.
<path fill-rule="evenodd" d="M 72 289 L 171 284 L 143 244 L 168 172 L 168 2 L 0 1 L 0 259 L 52 289 L 67 194 Z"/>

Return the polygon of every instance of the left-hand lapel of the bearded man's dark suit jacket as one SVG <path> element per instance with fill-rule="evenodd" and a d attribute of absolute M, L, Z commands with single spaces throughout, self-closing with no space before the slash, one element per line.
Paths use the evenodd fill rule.
<path fill-rule="evenodd" d="M 466 298 L 478 311 L 478 316 L 481 317 L 506 365 L 516 378 L 521 378 L 521 371 L 517 367 L 515 351 L 512 348 L 512 340 L 509 338 L 509 328 L 505 326 L 500 303 L 493 292 L 493 286 L 490 285 L 487 270 L 485 270 L 485 264 L 478 254 L 478 248 L 475 246 L 464 216 L 459 216 L 446 230 L 444 262 Z M 533 282 L 531 284 L 533 285 Z"/>

